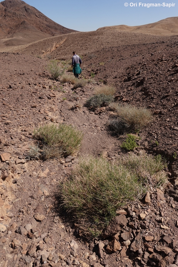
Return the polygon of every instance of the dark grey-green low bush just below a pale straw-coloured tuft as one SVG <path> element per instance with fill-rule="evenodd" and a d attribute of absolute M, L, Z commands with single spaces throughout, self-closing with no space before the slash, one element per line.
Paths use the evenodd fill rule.
<path fill-rule="evenodd" d="M 86 106 L 88 108 L 93 108 L 94 109 L 94 108 L 101 107 L 101 106 L 107 106 L 113 101 L 114 101 L 114 98 L 111 95 L 96 94 L 94 96 L 91 96 L 86 101 Z"/>

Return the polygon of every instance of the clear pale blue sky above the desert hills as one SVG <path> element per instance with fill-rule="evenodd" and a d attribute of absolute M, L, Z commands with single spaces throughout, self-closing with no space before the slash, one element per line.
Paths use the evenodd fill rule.
<path fill-rule="evenodd" d="M 60 25 L 77 31 L 94 31 L 99 27 L 120 24 L 137 26 L 178 16 L 178 0 L 24 1 Z M 124 6 L 124 3 L 128 3 L 128 6 Z M 132 3 L 135 3 L 135 7 L 132 6 Z M 163 3 L 175 3 L 175 5 L 173 7 L 144 7 L 142 4 L 139 6 L 139 3 L 160 3 L 161 5 Z"/>

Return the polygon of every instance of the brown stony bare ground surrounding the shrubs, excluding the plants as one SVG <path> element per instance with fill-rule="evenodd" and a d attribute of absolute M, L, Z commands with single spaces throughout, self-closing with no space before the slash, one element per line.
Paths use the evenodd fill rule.
<path fill-rule="evenodd" d="M 53 81 L 46 70 L 48 54 L 55 58 L 55 53 L 65 49 L 66 59 L 70 56 L 72 47 L 67 50 L 65 40 L 48 54 L 44 52 L 42 59 L 30 50 L 0 54 L 0 266 L 176 267 L 177 37 L 153 36 L 148 42 L 144 35 L 147 39 L 139 44 L 137 34 L 140 39 L 134 39 L 134 44 L 130 37 L 130 44 L 117 48 L 113 41 L 113 46 L 104 43 L 99 50 L 98 46 L 94 49 L 93 33 L 87 36 L 88 43 L 93 42 L 89 48 L 93 56 L 83 54 L 83 77 L 94 72 L 96 83 L 75 90 L 71 84 Z M 40 49 L 41 44 L 36 53 Z M 102 153 L 114 160 L 125 153 L 120 147 L 125 136 L 118 138 L 108 130 L 113 112 L 109 108 L 90 111 L 84 106 L 94 87 L 103 83 L 116 86 L 119 103 L 153 112 L 151 125 L 139 132 L 138 151 L 167 157 L 169 183 L 166 190 L 151 187 L 146 198 L 118 211 L 101 240 L 85 240 L 61 213 L 58 183 L 77 164 L 80 154 Z M 48 122 L 72 124 L 84 132 L 74 159 L 27 159 L 35 142 L 33 130 Z"/>

